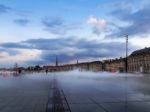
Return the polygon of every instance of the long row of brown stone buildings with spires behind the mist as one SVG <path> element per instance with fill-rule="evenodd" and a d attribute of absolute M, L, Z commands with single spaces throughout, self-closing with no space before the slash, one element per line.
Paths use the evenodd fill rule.
<path fill-rule="evenodd" d="M 49 72 L 57 71 L 70 71 L 78 69 L 80 71 L 110 71 L 110 72 L 125 72 L 126 58 L 109 59 L 104 61 L 93 61 L 93 62 L 78 62 L 75 64 L 58 65 L 58 59 L 56 57 L 55 66 L 43 66 L 42 69 L 48 70 Z M 29 70 L 33 68 L 30 67 Z M 141 72 L 150 73 L 150 48 L 134 51 L 128 56 L 128 72 Z"/>

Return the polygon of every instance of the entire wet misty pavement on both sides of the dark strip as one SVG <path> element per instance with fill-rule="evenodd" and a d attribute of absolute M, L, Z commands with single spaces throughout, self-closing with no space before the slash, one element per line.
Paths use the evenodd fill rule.
<path fill-rule="evenodd" d="M 78 71 L 0 76 L 0 112 L 46 112 L 54 79 L 71 112 L 150 112 L 150 75 Z"/>

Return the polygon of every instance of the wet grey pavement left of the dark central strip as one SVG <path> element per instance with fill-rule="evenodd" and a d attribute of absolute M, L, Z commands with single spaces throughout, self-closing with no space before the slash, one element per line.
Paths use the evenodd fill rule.
<path fill-rule="evenodd" d="M 0 77 L 0 112 L 45 112 L 50 87 L 41 74 Z"/>

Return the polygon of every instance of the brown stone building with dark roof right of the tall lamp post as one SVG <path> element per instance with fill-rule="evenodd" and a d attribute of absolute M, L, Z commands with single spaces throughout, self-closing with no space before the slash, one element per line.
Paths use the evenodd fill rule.
<path fill-rule="evenodd" d="M 128 71 L 150 73 L 150 48 L 134 51 L 128 57 Z"/>

